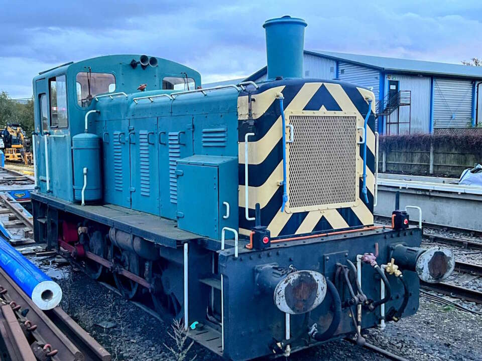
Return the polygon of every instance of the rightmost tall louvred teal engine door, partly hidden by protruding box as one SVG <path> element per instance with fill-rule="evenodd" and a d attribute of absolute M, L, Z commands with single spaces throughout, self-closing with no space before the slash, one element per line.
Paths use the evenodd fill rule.
<path fill-rule="evenodd" d="M 178 115 L 158 118 L 161 217 L 176 219 L 177 160 L 193 154 L 192 132 L 192 116 Z"/>

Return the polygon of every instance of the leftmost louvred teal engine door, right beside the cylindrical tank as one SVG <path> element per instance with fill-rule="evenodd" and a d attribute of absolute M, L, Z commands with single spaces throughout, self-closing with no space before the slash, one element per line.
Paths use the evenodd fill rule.
<path fill-rule="evenodd" d="M 129 120 L 107 120 L 102 133 L 104 201 L 131 208 Z"/>

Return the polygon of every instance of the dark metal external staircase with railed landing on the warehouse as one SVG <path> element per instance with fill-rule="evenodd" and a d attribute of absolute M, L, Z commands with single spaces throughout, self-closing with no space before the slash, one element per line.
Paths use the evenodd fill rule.
<path fill-rule="evenodd" d="M 411 90 L 400 90 L 395 94 L 389 93 L 383 99 L 380 99 L 377 102 L 375 116 L 379 119 L 379 121 L 380 119 L 383 119 L 383 117 L 387 118 L 387 134 L 398 134 L 400 131 L 400 124 L 408 124 L 408 131 L 410 133 L 411 102 Z M 403 119 L 404 121 L 400 121 L 400 107 L 403 106 L 409 107 L 408 121 L 406 121 L 406 119 Z M 393 114 L 394 112 L 396 112 L 396 119 L 395 121 L 391 121 L 393 118 L 395 118 Z"/>

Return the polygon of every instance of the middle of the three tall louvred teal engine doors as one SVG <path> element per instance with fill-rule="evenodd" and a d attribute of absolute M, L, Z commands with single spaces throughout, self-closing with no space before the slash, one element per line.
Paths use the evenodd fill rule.
<path fill-rule="evenodd" d="M 159 215 L 157 118 L 130 121 L 131 202 L 138 211 Z"/>

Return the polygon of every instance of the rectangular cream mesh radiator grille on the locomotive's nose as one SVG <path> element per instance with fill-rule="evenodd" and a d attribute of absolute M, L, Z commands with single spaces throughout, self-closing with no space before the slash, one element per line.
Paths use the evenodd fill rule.
<path fill-rule="evenodd" d="M 290 208 L 356 200 L 356 117 L 292 115 Z"/>

